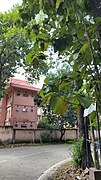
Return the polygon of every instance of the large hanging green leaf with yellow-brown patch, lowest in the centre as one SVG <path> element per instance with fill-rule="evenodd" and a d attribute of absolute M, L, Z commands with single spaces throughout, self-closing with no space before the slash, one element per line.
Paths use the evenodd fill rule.
<path fill-rule="evenodd" d="M 52 96 L 51 107 L 54 113 L 63 114 L 67 110 L 67 102 L 64 100 L 64 97 Z"/>

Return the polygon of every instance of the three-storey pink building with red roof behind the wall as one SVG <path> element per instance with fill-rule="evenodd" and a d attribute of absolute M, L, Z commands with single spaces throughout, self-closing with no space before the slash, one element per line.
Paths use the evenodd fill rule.
<path fill-rule="evenodd" d="M 5 97 L 0 102 L 0 126 L 14 128 L 37 128 L 37 106 L 34 104 L 34 95 L 38 88 L 28 82 L 10 78 Z"/>

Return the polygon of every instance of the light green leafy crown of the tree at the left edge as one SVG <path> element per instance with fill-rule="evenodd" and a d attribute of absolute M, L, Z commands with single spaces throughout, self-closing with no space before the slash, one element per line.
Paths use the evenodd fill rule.
<path fill-rule="evenodd" d="M 14 25 L 14 12 L 16 9 L 12 13 L 0 14 L 0 98 L 7 84 L 7 78 L 14 75 L 17 68 L 23 65 L 30 47 L 23 31 Z M 15 15 L 17 14 L 16 12 Z"/>

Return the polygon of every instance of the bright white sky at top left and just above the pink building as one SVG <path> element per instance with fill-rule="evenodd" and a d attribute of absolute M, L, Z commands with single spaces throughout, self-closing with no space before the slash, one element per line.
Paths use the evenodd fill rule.
<path fill-rule="evenodd" d="M 7 12 L 15 4 L 21 5 L 22 4 L 22 0 L 0 0 L 0 12 L 2 12 L 2 13 Z M 23 71 L 22 68 L 19 69 L 19 72 L 22 72 L 22 71 Z M 15 78 L 21 79 L 21 80 L 25 80 L 25 76 L 21 75 L 20 73 L 19 74 L 15 74 Z M 45 77 L 42 76 L 40 79 L 41 80 L 38 83 L 33 84 L 37 88 L 41 88 L 42 87 Z"/>

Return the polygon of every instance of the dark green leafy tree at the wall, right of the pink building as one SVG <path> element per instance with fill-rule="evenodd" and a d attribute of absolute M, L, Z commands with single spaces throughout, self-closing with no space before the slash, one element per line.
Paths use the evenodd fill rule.
<path fill-rule="evenodd" d="M 51 133 L 55 129 L 59 130 L 61 132 L 60 141 L 62 141 L 67 128 L 77 127 L 77 117 L 71 106 L 63 115 L 54 114 L 49 105 L 43 110 L 44 116 L 38 122 L 38 128 L 50 130 Z"/>

